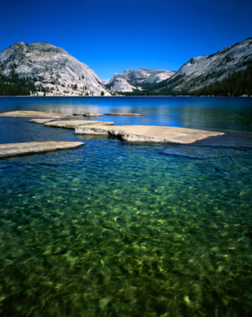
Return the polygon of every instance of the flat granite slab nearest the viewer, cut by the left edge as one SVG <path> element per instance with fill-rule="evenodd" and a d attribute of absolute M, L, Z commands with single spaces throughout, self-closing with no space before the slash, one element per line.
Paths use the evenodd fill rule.
<path fill-rule="evenodd" d="M 84 145 L 84 143 L 55 141 L 0 144 L 0 157 L 75 149 L 81 147 L 81 145 Z"/>

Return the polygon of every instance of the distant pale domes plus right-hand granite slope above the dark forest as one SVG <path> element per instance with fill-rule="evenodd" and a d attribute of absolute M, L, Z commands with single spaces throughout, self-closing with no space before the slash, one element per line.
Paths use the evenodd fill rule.
<path fill-rule="evenodd" d="M 252 38 L 247 38 L 212 55 L 191 58 L 177 72 L 140 68 L 115 73 L 105 87 L 112 92 L 133 94 L 192 94 L 244 71 L 251 64 Z"/>

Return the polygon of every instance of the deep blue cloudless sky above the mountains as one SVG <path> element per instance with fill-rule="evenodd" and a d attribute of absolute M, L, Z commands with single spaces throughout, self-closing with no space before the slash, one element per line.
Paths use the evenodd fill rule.
<path fill-rule="evenodd" d="M 0 51 L 49 42 L 101 79 L 140 67 L 177 71 L 249 36 L 251 0 L 0 0 Z"/>

